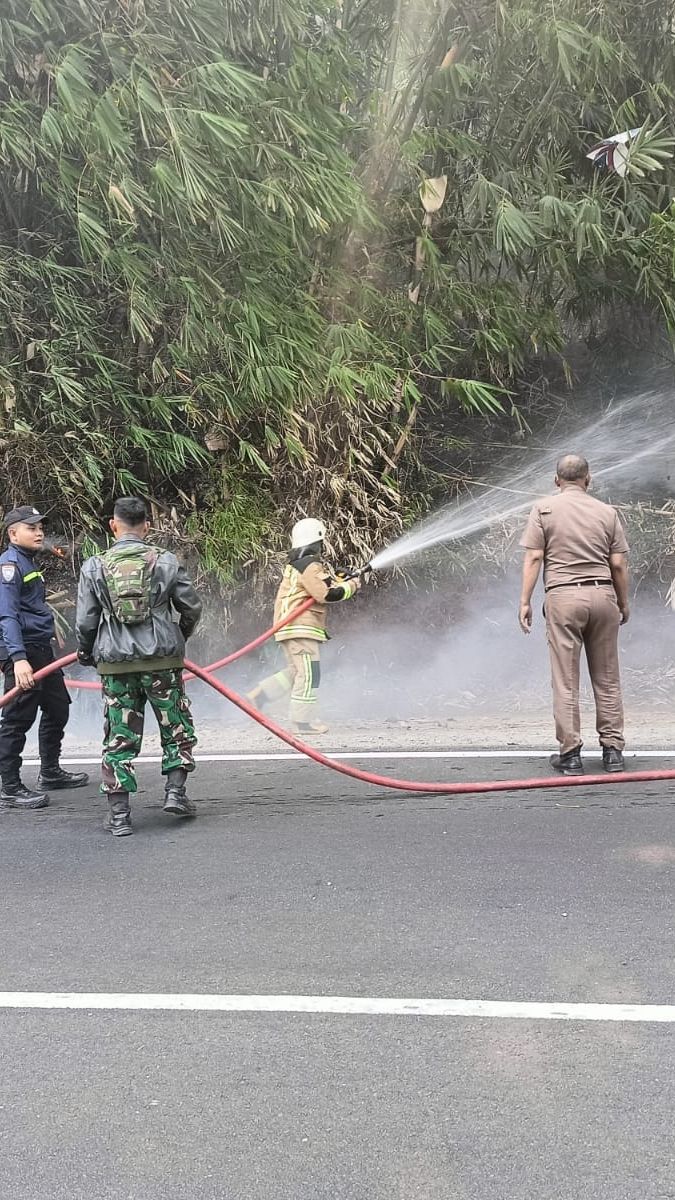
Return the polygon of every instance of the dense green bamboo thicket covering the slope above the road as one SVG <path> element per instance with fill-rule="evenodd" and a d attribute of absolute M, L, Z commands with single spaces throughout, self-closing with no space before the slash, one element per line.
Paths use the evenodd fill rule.
<path fill-rule="evenodd" d="M 309 511 L 369 556 L 431 425 L 675 325 L 670 0 L 6 0 L 0 67 L 5 502 L 74 530 L 143 490 L 223 577 Z"/>

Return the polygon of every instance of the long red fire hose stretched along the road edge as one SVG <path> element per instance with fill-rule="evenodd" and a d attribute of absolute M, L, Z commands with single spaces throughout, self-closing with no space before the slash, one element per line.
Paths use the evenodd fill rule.
<path fill-rule="evenodd" d="M 306 606 L 305 606 L 306 607 Z M 265 637 L 269 637 L 271 630 L 261 638 L 256 638 L 251 643 L 251 647 L 259 646 Z M 249 650 L 250 647 L 243 647 L 241 650 L 235 652 L 234 658 L 240 658 Z M 50 674 L 53 671 L 58 671 L 61 667 L 70 666 L 74 662 L 77 654 L 66 654 L 65 658 L 59 659 L 56 662 L 50 662 L 49 666 L 42 667 L 41 671 L 35 672 L 35 679 L 40 680 L 44 676 Z M 330 767 L 331 770 L 340 772 L 341 775 L 348 775 L 351 779 L 359 779 L 364 784 L 372 784 L 376 787 L 392 787 L 400 792 L 428 792 L 441 796 L 470 796 L 478 792 L 524 792 L 533 791 L 534 788 L 544 787 L 587 787 L 589 785 L 596 784 L 650 784 L 657 780 L 674 780 L 675 770 L 633 770 L 633 772 L 621 772 L 617 774 L 603 774 L 603 775 L 551 775 L 544 776 L 543 779 L 497 779 L 497 780 L 479 780 L 472 784 L 429 784 L 426 781 L 411 780 L 411 779 L 392 779 L 389 775 L 376 775 L 369 770 L 359 770 L 357 767 L 350 767 L 347 763 L 339 762 L 335 758 L 328 758 L 327 755 L 321 754 L 319 750 L 315 750 L 313 746 L 306 745 L 306 743 L 300 742 L 287 730 L 283 730 L 275 721 L 271 721 L 268 716 L 263 716 L 257 709 L 239 696 L 235 691 L 231 691 L 226 688 L 220 679 L 215 679 L 214 676 L 209 673 L 208 670 L 198 667 L 195 662 L 185 661 L 187 670 L 208 683 L 215 691 L 229 700 L 237 708 L 240 708 L 243 713 L 251 716 L 258 725 L 264 726 L 270 733 L 286 742 L 287 745 L 292 746 L 293 750 L 298 750 L 300 754 L 305 755 L 307 758 L 312 758 L 313 762 L 318 762 L 322 767 Z M 11 691 L 6 692 L 0 697 L 0 708 L 7 704 L 11 700 L 19 694 L 19 688 L 12 688 Z"/>

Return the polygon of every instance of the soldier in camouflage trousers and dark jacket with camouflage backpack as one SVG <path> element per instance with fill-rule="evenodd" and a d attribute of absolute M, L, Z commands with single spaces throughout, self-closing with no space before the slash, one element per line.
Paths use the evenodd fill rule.
<path fill-rule="evenodd" d="M 195 769 L 197 738 L 183 686 L 183 662 L 185 640 L 197 625 L 202 605 L 177 558 L 147 542 L 149 528 L 143 500 L 119 499 L 110 521 L 114 545 L 84 563 L 78 590 L 78 656 L 83 664 L 96 664 L 103 688 L 101 790 L 108 796 L 106 828 L 115 836 L 133 832 L 133 761 L 143 740 L 148 701 L 162 743 L 163 810 L 175 816 L 196 812 L 185 790 Z"/>

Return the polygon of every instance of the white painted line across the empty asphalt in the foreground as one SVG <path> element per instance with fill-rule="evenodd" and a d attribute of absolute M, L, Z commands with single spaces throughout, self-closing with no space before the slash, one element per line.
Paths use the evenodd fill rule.
<path fill-rule="evenodd" d="M 675 1022 L 675 1004 L 568 1004 L 381 996 L 220 996 L 191 992 L 4 991 L 0 1008 L 155 1013 L 318 1013 L 334 1016 L 462 1016 L 521 1021 Z"/>

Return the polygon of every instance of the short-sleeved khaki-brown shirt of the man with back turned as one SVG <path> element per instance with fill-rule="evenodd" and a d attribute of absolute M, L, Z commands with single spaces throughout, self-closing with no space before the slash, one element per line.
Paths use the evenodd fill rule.
<path fill-rule="evenodd" d="M 581 487 L 566 487 L 533 505 L 520 539 L 526 550 L 544 551 L 544 587 L 609 580 L 610 554 L 627 554 L 619 515 Z"/>

